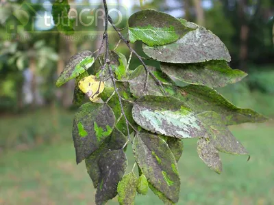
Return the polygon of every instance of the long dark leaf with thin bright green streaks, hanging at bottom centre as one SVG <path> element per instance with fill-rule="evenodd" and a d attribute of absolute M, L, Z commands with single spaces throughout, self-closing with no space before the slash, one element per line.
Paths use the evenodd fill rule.
<path fill-rule="evenodd" d="M 178 202 L 178 168 L 167 143 L 157 135 L 142 132 L 136 135 L 132 147 L 136 161 L 147 180 L 169 200 Z"/>

